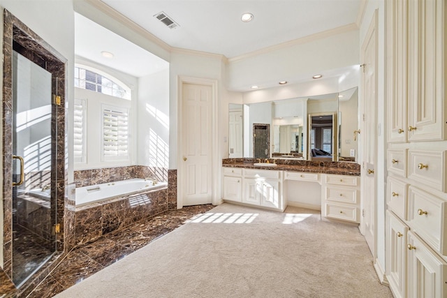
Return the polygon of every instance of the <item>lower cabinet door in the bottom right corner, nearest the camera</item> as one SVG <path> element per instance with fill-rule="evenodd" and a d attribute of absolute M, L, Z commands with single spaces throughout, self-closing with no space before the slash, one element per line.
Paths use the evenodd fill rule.
<path fill-rule="evenodd" d="M 446 297 L 447 263 L 411 231 L 408 243 L 408 297 Z"/>

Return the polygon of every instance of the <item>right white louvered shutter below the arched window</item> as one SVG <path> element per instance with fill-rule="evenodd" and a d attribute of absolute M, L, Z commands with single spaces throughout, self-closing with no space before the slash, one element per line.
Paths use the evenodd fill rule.
<path fill-rule="evenodd" d="M 103 106 L 103 156 L 105 159 L 129 157 L 129 110 Z"/>

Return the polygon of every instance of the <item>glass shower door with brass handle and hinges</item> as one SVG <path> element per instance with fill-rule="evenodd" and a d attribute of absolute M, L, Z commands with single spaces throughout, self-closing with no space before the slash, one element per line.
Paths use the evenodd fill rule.
<path fill-rule="evenodd" d="M 51 73 L 13 52 L 13 281 L 17 287 L 56 251 L 51 90 Z"/>

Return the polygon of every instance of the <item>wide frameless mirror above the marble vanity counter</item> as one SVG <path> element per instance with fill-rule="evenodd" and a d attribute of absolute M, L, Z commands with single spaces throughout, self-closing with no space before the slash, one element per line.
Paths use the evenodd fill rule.
<path fill-rule="evenodd" d="M 270 126 L 270 158 L 357 161 L 358 88 L 229 106 L 229 157 L 254 156 L 254 124 Z"/>

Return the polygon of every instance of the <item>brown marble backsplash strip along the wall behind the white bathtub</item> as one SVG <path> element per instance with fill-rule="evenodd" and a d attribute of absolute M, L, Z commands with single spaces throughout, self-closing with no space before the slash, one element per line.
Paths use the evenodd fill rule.
<path fill-rule="evenodd" d="M 91 186 L 108 182 L 122 181 L 133 178 L 151 178 L 157 181 L 168 180 L 168 170 L 161 167 L 145 165 L 129 165 L 126 167 L 101 167 L 74 172 L 76 187 Z"/>

